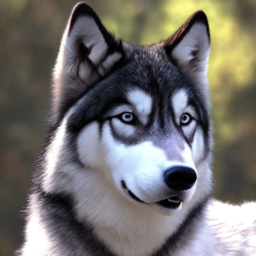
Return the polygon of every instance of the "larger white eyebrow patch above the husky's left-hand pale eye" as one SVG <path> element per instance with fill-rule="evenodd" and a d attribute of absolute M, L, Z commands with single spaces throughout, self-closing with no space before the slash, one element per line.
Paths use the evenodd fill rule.
<path fill-rule="evenodd" d="M 129 102 L 135 107 L 138 119 L 145 125 L 152 109 L 152 99 L 144 91 L 137 89 L 128 93 Z"/>

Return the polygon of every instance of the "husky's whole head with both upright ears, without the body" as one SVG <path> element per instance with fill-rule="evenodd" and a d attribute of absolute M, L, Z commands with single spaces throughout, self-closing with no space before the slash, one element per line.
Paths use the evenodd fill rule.
<path fill-rule="evenodd" d="M 202 11 L 167 41 L 134 46 L 77 4 L 54 72 L 44 190 L 72 196 L 80 217 L 113 202 L 162 215 L 203 202 L 211 183 L 209 52 Z"/>

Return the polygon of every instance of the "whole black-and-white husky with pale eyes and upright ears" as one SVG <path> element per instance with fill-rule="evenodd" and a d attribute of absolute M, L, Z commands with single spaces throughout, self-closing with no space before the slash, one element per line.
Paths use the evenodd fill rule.
<path fill-rule="evenodd" d="M 256 255 L 255 204 L 211 198 L 209 53 L 203 11 L 135 46 L 74 7 L 17 255 Z"/>

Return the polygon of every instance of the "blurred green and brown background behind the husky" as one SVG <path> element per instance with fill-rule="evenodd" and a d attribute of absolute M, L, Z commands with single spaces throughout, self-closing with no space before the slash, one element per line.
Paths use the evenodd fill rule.
<path fill-rule="evenodd" d="M 51 72 L 76 1 L 0 1 L 0 254 L 22 241 L 29 175 L 41 148 Z M 196 10 L 209 19 L 209 80 L 214 120 L 215 197 L 256 200 L 256 1 L 89 3 L 108 30 L 128 42 L 168 38 Z"/>

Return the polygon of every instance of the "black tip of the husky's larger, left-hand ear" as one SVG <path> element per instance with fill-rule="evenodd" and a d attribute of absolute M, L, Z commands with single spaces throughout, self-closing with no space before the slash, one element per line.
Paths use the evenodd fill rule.
<path fill-rule="evenodd" d="M 96 12 L 93 10 L 93 8 L 91 7 L 90 4 L 88 4 L 86 2 L 77 3 L 72 10 L 68 33 L 71 32 L 76 20 L 79 17 L 86 16 L 86 15 L 92 16 L 94 18 L 98 17 Z"/>

